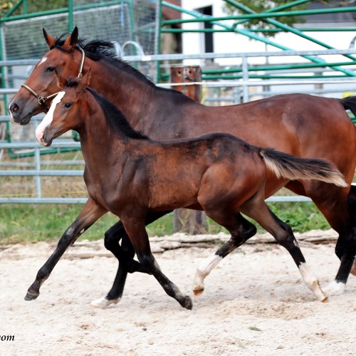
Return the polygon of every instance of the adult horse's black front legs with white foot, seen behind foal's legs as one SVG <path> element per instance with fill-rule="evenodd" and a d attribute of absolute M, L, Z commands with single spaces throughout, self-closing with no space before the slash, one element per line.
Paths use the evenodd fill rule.
<path fill-rule="evenodd" d="M 148 212 L 145 224 L 151 224 L 153 221 L 156 221 L 169 212 L 170 211 Z M 121 239 L 122 244 L 120 246 L 119 241 Z M 102 309 L 108 308 L 110 304 L 116 304 L 120 301 L 124 291 L 127 273 L 146 272 L 140 263 L 133 259 L 135 256 L 135 249 L 131 244 L 129 236 L 127 236 L 122 221 L 118 221 L 106 231 L 104 244 L 105 247 L 117 258 L 119 266 L 109 293 L 105 297 L 93 300 L 93 302 L 90 303 L 91 306 Z"/>

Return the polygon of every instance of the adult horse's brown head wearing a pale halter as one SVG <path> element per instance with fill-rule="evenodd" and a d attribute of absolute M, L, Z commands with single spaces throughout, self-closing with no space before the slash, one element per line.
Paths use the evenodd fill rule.
<path fill-rule="evenodd" d="M 80 64 L 83 55 L 75 49 L 78 28 L 75 27 L 61 45 L 44 28 L 43 36 L 49 51 L 38 61 L 31 75 L 9 103 L 11 120 L 20 125 L 27 125 L 33 115 L 48 110 L 51 100 L 60 90 L 56 73 L 68 79 L 77 76 L 83 66 Z"/>

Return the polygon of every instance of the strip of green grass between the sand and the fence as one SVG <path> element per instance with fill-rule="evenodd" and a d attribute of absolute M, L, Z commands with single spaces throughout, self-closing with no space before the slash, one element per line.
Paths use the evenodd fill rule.
<path fill-rule="evenodd" d="M 330 229 L 323 215 L 312 203 L 272 203 L 269 206 L 281 220 L 290 224 L 294 231 Z M 0 244 L 58 241 L 81 209 L 80 204 L 1 204 Z M 116 216 L 106 214 L 85 231 L 81 239 L 101 239 L 115 222 Z M 207 219 L 206 230 L 209 234 L 227 232 L 210 219 Z M 147 226 L 147 231 L 150 236 L 173 234 L 172 214 Z M 258 227 L 258 232 L 264 230 Z"/>

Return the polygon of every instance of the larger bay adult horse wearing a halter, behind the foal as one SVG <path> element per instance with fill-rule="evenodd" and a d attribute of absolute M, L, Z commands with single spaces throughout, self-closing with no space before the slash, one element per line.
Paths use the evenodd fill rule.
<path fill-rule="evenodd" d="M 208 107 L 175 90 L 158 88 L 135 68 L 115 58 L 110 51 L 111 43 L 92 41 L 84 46 L 78 41 L 77 28 L 66 40 L 62 37 L 56 40 L 44 30 L 43 34 L 50 50 L 26 80 L 27 88 L 21 88 L 9 103 L 14 122 L 26 125 L 33 115 L 45 110 L 50 102 L 47 97 L 59 90 L 55 72 L 68 79 L 91 68 L 90 85 L 120 108 L 135 130 L 152 139 L 229 132 L 253 145 L 273 147 L 298 157 L 327 159 L 342 172 L 347 183 L 352 182 L 356 164 L 355 126 L 345 110 L 355 113 L 356 97 L 333 99 L 288 94 L 241 105 Z M 41 104 L 33 93 L 40 97 Z M 340 268 L 326 290 L 330 294 L 342 293 L 356 253 L 355 187 L 298 179 L 286 182 L 268 171 L 266 197 L 283 185 L 310 197 L 339 234 L 335 252 L 341 260 Z M 146 223 L 162 214 L 147 214 Z M 120 239 L 122 248 L 133 256 L 134 249 L 119 221 L 105 234 L 105 246 L 113 248 L 115 256 L 119 253 L 115 248 Z M 114 285 L 106 296 L 108 304 L 120 299 L 126 276 L 125 266 L 119 265 Z"/>

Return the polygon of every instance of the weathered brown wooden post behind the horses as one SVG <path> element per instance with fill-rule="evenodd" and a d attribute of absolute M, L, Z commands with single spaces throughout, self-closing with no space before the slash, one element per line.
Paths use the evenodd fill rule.
<path fill-rule="evenodd" d="M 171 83 L 201 82 L 201 68 L 199 66 L 172 66 Z M 174 85 L 173 89 L 179 90 L 194 100 L 201 101 L 201 85 Z M 206 216 L 204 211 L 188 209 L 174 210 L 174 231 L 187 232 L 188 234 L 206 233 Z"/>

